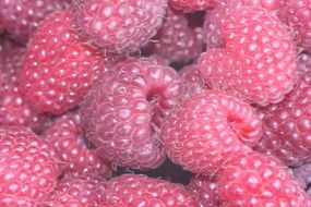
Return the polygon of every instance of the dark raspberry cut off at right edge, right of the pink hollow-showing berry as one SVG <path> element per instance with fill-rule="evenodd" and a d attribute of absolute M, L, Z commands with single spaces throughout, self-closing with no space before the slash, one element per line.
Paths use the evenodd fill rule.
<path fill-rule="evenodd" d="M 303 62 L 299 65 L 301 77 L 294 90 L 282 102 L 258 109 L 264 136 L 255 149 L 274 155 L 286 166 L 311 160 L 311 72 Z"/>

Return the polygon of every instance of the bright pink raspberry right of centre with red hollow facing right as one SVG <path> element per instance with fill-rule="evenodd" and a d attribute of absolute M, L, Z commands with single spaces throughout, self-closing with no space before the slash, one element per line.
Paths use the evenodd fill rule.
<path fill-rule="evenodd" d="M 183 100 L 162 127 L 168 157 L 206 175 L 219 174 L 228 159 L 250 151 L 261 135 L 261 120 L 248 104 L 214 90 Z"/>

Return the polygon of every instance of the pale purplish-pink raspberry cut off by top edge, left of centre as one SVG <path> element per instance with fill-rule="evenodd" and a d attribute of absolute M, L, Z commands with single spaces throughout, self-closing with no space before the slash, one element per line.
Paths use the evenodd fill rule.
<path fill-rule="evenodd" d="M 135 51 L 156 35 L 167 0 L 76 0 L 80 36 L 107 52 Z"/>

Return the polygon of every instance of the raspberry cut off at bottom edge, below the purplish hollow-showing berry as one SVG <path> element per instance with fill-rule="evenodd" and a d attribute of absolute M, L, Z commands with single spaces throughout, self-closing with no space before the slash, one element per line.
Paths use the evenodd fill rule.
<path fill-rule="evenodd" d="M 182 185 L 142 174 L 123 174 L 106 184 L 103 206 L 198 207 L 194 197 Z"/>

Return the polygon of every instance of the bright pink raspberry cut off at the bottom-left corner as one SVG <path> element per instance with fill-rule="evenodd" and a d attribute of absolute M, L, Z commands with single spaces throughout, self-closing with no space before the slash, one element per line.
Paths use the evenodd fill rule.
<path fill-rule="evenodd" d="M 0 126 L 0 206 L 34 207 L 60 174 L 52 146 L 20 126 Z"/>

